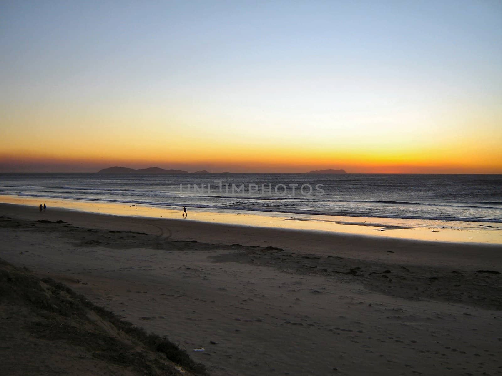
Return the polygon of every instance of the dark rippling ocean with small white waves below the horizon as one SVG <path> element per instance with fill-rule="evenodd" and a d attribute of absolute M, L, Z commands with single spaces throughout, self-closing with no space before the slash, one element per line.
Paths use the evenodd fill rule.
<path fill-rule="evenodd" d="M 366 218 L 502 223 L 502 175 L 3 173 L 0 195 Z"/>

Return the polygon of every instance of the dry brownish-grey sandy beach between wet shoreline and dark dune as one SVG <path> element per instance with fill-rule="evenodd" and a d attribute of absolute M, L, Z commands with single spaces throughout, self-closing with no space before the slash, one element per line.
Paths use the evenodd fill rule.
<path fill-rule="evenodd" d="M 502 374 L 502 245 L 0 216 L 1 258 L 167 335 L 213 375 Z"/>

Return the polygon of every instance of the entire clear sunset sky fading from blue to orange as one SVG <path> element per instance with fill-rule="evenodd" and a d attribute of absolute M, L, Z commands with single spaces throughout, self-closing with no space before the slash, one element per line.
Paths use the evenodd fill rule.
<path fill-rule="evenodd" d="M 502 173 L 502 2 L 0 3 L 0 172 Z"/>

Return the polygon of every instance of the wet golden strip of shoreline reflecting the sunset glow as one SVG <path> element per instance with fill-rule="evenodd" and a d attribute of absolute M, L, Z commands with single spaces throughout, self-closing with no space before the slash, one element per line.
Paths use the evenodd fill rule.
<path fill-rule="evenodd" d="M 0 195 L 0 203 L 38 207 L 39 198 Z M 181 211 L 144 205 L 92 201 L 48 199 L 49 212 L 58 209 L 150 219 L 180 220 Z M 285 215 L 272 212 L 233 212 L 188 208 L 188 222 L 213 223 L 242 227 L 317 231 L 339 235 L 415 241 L 502 245 L 502 224 L 403 220 L 377 217 L 337 217 L 320 215 Z"/>

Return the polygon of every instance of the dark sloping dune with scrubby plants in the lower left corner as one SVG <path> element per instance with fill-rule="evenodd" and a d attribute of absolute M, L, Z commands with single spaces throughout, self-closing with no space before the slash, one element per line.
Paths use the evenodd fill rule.
<path fill-rule="evenodd" d="M 148 335 L 52 278 L 37 278 L 2 259 L 0 314 L 5 375 L 207 374 L 174 343 Z"/>

